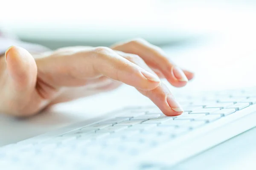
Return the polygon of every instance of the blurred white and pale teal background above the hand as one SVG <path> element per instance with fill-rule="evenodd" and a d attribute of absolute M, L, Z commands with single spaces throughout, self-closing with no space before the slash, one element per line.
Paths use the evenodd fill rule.
<path fill-rule="evenodd" d="M 221 34 L 251 37 L 256 30 L 256 0 L 2 0 L 1 6 L 1 29 L 52 49 L 134 37 L 177 45 Z"/>

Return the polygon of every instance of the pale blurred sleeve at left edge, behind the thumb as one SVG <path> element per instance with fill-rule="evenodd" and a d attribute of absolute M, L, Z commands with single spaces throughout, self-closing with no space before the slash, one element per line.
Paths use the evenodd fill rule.
<path fill-rule="evenodd" d="M 33 52 L 33 53 L 49 51 L 48 48 L 42 45 L 23 42 L 18 40 L 16 37 L 10 36 L 8 34 L 4 34 L 3 32 L 0 31 L 0 55 L 4 54 L 6 49 L 12 45 L 20 46 L 22 48 L 25 48 L 27 51 Z"/>

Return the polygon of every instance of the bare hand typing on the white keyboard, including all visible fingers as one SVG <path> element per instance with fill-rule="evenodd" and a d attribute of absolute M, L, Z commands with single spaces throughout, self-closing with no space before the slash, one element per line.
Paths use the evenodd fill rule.
<path fill-rule="evenodd" d="M 34 59 L 35 58 L 35 59 Z M 160 78 L 182 87 L 193 74 L 178 68 L 145 40 L 107 47 L 67 47 L 32 55 L 13 46 L 0 60 L 0 111 L 30 116 L 49 105 L 117 88 L 134 86 L 167 116 L 182 108 Z"/>

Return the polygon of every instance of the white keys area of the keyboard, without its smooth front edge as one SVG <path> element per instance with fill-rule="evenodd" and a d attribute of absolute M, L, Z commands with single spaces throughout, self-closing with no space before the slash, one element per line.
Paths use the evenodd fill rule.
<path fill-rule="evenodd" d="M 184 112 L 179 116 L 165 116 L 156 106 L 125 108 L 110 119 L 50 138 L 1 147 L 0 167 L 8 170 L 114 169 L 121 161 L 250 108 L 256 103 L 255 90 L 180 95 L 178 100 Z"/>

